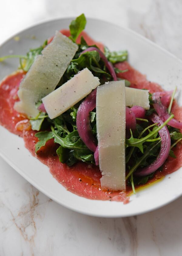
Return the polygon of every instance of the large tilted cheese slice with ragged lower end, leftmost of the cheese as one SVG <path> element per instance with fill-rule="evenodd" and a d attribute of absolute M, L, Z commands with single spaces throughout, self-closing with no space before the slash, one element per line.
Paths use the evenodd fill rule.
<path fill-rule="evenodd" d="M 37 56 L 22 80 L 18 91 L 20 101 L 15 103 L 15 110 L 32 117 L 38 115 L 36 101 L 56 88 L 77 49 L 78 45 L 56 31 L 52 42 Z"/>

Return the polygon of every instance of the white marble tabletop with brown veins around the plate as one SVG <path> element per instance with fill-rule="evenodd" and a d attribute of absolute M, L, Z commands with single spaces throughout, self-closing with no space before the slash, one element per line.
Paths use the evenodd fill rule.
<path fill-rule="evenodd" d="M 37 22 L 84 12 L 132 28 L 182 58 L 181 0 L 6 0 L 0 10 L 0 43 Z M 53 202 L 0 158 L 0 256 L 181 255 L 181 212 L 179 198 L 130 218 L 84 216 Z"/>

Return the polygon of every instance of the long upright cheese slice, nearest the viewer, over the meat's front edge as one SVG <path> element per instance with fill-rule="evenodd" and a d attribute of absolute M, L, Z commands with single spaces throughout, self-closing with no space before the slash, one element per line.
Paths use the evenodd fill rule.
<path fill-rule="evenodd" d="M 101 187 L 111 191 L 125 190 L 124 80 L 108 82 L 97 88 L 96 115 Z"/>

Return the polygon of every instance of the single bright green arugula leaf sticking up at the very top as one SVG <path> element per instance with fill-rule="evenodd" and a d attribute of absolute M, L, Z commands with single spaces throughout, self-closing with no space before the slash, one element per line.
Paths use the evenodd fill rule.
<path fill-rule="evenodd" d="M 84 14 L 78 16 L 75 20 L 72 20 L 69 25 L 70 34 L 72 35 L 72 39 L 76 42 L 79 34 L 84 30 L 86 26 L 86 18 Z"/>

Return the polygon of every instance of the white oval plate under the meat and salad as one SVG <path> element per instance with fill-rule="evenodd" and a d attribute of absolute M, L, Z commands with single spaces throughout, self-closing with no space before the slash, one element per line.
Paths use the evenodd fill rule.
<path fill-rule="evenodd" d="M 53 20 L 28 28 L 12 37 L 0 47 L 0 56 L 24 54 L 29 48 L 41 45 L 56 30 L 68 28 L 71 18 Z M 182 62 L 146 38 L 125 28 L 108 22 L 87 19 L 86 32 L 95 40 L 103 42 L 111 50 L 129 51 L 129 62 L 151 81 L 165 89 L 175 85 L 182 88 Z M 32 39 L 32 36 L 36 39 Z M 0 79 L 16 70 L 19 61 L 7 60 L 0 64 Z M 178 102 L 182 97 L 178 95 Z M 126 217 L 157 209 L 177 199 L 182 194 L 182 168 L 162 181 L 137 192 L 130 197 L 129 204 L 122 202 L 89 200 L 67 191 L 49 173 L 49 168 L 33 157 L 24 147 L 22 138 L 0 126 L 0 155 L 22 177 L 42 193 L 59 204 L 74 211 L 98 217 Z M 18 149 L 19 148 L 19 149 Z M 169 179 L 170 176 L 170 179 Z"/>

